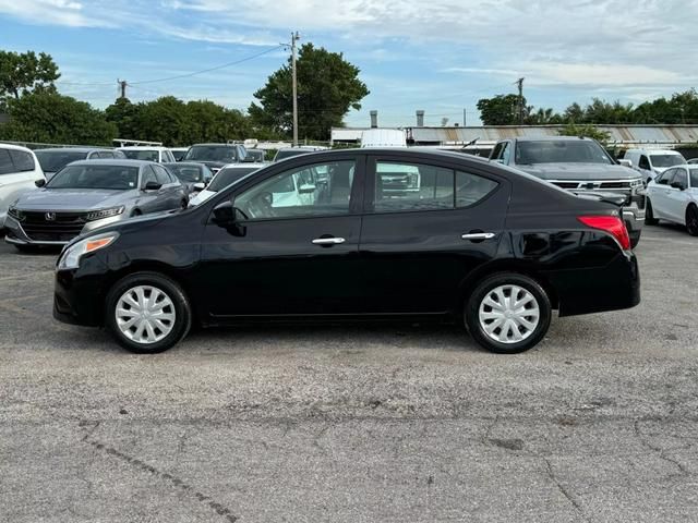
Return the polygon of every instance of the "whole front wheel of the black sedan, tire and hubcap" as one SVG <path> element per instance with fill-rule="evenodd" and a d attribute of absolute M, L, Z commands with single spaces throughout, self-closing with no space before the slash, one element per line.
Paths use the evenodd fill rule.
<path fill-rule="evenodd" d="M 131 352 L 154 354 L 177 344 L 191 328 L 191 305 L 182 289 L 157 272 L 136 272 L 107 295 L 105 325 Z"/>

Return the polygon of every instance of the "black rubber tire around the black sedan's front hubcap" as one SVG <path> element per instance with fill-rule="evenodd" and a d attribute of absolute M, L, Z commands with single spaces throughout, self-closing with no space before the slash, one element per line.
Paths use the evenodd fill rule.
<path fill-rule="evenodd" d="M 117 304 L 130 289 L 139 285 L 153 287 L 165 293 L 172 302 L 174 320 L 171 331 L 163 339 L 152 343 L 140 343 L 128 338 L 117 324 Z M 156 354 L 167 351 L 179 343 L 192 325 L 191 305 L 182 288 L 173 280 L 158 272 L 135 272 L 119 280 L 107 294 L 105 302 L 105 326 L 111 336 L 124 349 L 139 354 Z"/>

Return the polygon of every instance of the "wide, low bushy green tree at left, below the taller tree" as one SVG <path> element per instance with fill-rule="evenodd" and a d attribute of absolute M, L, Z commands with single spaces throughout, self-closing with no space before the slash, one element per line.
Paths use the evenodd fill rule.
<path fill-rule="evenodd" d="M 0 138 L 72 145 L 110 145 L 117 133 L 103 111 L 57 93 L 26 93 L 8 101 Z"/>

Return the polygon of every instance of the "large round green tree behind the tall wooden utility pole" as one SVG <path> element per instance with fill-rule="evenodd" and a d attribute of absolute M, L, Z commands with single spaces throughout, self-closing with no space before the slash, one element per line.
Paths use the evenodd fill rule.
<path fill-rule="evenodd" d="M 360 70 L 344 59 L 305 44 L 297 61 L 299 136 L 328 139 L 333 126 L 342 125 L 349 109 L 361 109 L 360 101 L 369 94 L 359 80 Z M 248 109 L 255 129 L 267 127 L 275 133 L 292 132 L 291 60 L 273 73 L 264 87 L 254 93 L 261 105 Z"/>

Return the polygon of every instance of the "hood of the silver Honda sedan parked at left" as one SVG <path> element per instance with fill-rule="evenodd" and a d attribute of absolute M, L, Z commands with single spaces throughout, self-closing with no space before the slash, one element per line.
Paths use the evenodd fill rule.
<path fill-rule="evenodd" d="M 99 188 L 40 188 L 20 197 L 21 210 L 93 210 L 118 207 L 137 191 L 106 191 Z"/>

